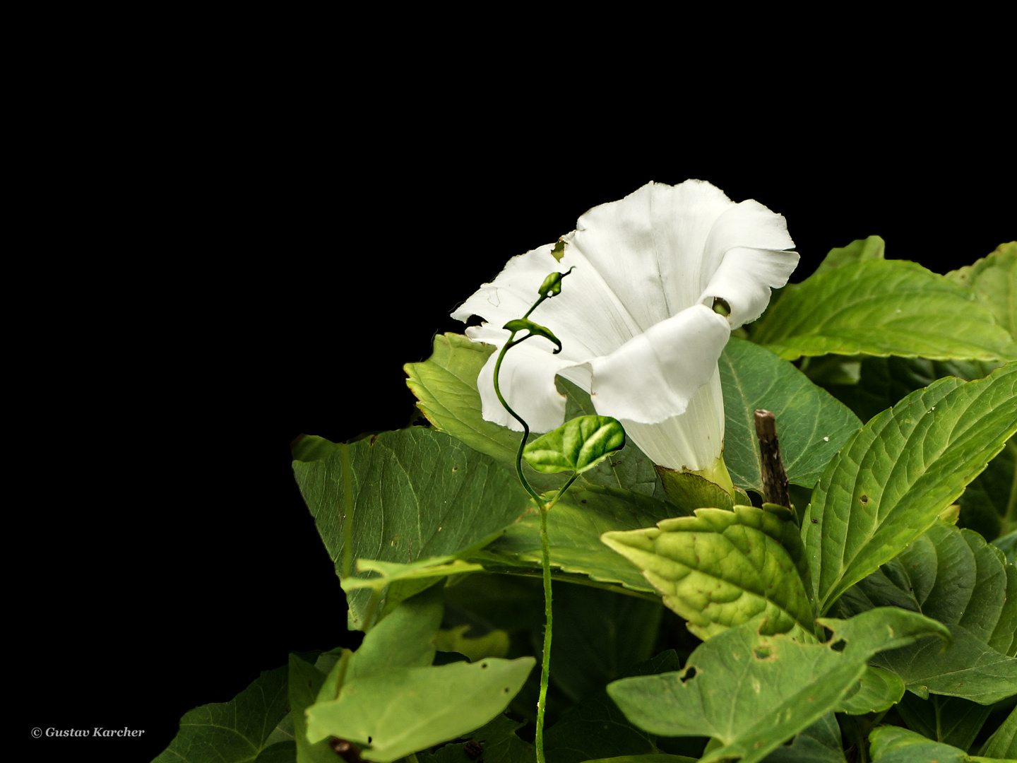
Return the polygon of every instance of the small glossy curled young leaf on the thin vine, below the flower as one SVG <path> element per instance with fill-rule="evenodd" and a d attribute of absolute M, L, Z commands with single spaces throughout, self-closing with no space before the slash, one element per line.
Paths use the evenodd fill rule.
<path fill-rule="evenodd" d="M 625 430 L 617 419 L 580 416 L 527 445 L 523 458 L 538 472 L 580 474 L 624 445 Z"/>

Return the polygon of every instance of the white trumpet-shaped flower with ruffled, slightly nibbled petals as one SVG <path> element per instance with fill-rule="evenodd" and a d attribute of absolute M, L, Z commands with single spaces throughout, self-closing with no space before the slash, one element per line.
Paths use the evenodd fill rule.
<path fill-rule="evenodd" d="M 558 374 L 621 421 L 654 463 L 712 468 L 724 439 L 717 359 L 731 330 L 758 318 L 798 263 L 784 218 L 701 180 L 649 183 L 587 212 L 562 241 L 560 261 L 552 244 L 513 257 L 453 313 L 484 318 L 467 336 L 500 348 L 510 336 L 500 327 L 526 313 L 544 278 L 575 268 L 530 316 L 561 352 L 534 337 L 505 354 L 498 382 L 508 405 L 534 431 L 560 426 Z M 729 315 L 713 310 L 715 299 Z M 494 394 L 495 358 L 478 379 L 484 418 L 521 430 Z"/>

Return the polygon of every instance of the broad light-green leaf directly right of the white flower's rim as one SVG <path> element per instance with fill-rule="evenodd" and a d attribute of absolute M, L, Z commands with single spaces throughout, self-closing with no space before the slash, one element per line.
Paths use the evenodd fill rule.
<path fill-rule="evenodd" d="M 827 353 L 1017 357 L 1010 334 L 970 290 L 899 259 L 849 262 L 785 289 L 752 337 L 788 360 Z"/>

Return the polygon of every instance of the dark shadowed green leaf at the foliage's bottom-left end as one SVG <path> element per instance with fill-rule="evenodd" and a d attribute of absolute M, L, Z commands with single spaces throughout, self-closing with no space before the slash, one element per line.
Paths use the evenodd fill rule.
<path fill-rule="evenodd" d="M 153 763 L 280 763 L 293 760 L 292 740 L 275 742 L 286 717 L 289 668 L 264 670 L 229 702 L 196 707 L 180 719 L 180 730 Z"/>

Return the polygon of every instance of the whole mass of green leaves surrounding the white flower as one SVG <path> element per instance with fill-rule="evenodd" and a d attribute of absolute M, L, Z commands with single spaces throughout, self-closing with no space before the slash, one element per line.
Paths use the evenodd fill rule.
<path fill-rule="evenodd" d="M 557 380 L 570 423 L 521 467 L 545 501 L 575 477 L 546 517 L 549 763 L 1017 758 L 1017 243 L 945 276 L 885 255 L 832 250 L 725 348 L 733 505 L 668 493 Z M 191 711 L 160 763 L 533 761 L 540 512 L 482 416 L 491 349 L 406 366 L 426 426 L 295 444 L 363 643 Z M 792 507 L 763 501 L 761 408 Z"/>

